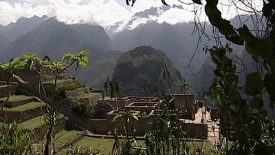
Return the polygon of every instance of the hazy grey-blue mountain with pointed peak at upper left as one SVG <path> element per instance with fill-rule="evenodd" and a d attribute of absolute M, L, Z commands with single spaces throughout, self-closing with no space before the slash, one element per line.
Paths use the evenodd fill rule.
<path fill-rule="evenodd" d="M 65 52 L 72 51 L 77 45 L 86 43 L 76 31 L 56 19 L 48 19 L 34 30 L 23 34 L 7 48 L 5 59 L 11 59 L 24 52 L 36 52 L 39 56 L 48 55 L 52 59 L 59 58 Z"/>

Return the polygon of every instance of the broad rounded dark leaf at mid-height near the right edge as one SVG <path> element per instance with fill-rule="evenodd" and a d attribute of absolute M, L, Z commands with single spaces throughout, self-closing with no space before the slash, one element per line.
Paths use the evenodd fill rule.
<path fill-rule="evenodd" d="M 261 74 L 254 72 L 248 74 L 245 81 L 245 92 L 250 96 L 256 96 L 263 91 L 263 82 L 261 81 Z"/>

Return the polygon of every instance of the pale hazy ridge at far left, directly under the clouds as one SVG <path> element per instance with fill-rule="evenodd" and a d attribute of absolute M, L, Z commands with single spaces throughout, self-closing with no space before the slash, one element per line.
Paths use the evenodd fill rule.
<path fill-rule="evenodd" d="M 46 19 L 48 19 L 47 16 L 34 16 L 31 18 L 21 17 L 17 20 L 16 23 L 12 22 L 0 28 L 0 33 L 3 34 L 3 36 L 9 41 L 14 41 L 15 39 L 21 37 L 22 34 L 25 34 L 30 30 L 36 28 L 36 26 L 43 23 L 43 21 L 45 21 Z"/>

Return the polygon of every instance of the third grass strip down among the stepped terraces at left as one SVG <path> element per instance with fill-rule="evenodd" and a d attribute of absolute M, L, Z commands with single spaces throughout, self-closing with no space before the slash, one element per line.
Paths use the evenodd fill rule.
<path fill-rule="evenodd" d="M 64 118 L 63 114 L 60 114 L 58 116 L 58 119 L 61 119 L 61 118 Z M 32 119 L 29 119 L 28 121 L 21 123 L 21 125 L 24 129 L 35 129 L 37 127 L 41 127 L 42 125 L 44 125 L 44 123 L 45 123 L 45 120 L 43 115 L 43 116 L 37 116 Z"/>

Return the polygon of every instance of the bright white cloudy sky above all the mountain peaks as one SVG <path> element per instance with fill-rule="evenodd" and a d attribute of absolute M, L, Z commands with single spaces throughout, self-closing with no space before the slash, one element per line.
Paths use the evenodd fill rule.
<path fill-rule="evenodd" d="M 144 23 L 148 20 L 159 23 L 165 21 L 171 24 L 192 21 L 194 6 L 186 6 L 178 0 L 166 1 L 170 6 L 173 6 L 173 4 L 181 5 L 184 9 L 173 8 L 162 12 L 159 17 L 138 19 L 137 23 Z M 115 23 L 129 21 L 136 12 L 141 12 L 152 6 L 162 5 L 160 0 L 137 0 L 133 7 L 126 6 L 125 0 L 0 0 L 0 24 L 8 25 L 10 22 L 17 21 L 20 17 L 33 17 L 34 15 L 42 17 L 47 15 L 69 24 L 96 23 L 109 27 L 115 25 Z M 230 19 L 236 15 L 236 11 L 232 8 L 222 9 L 225 18 Z M 137 23 L 135 25 L 138 25 Z"/>

